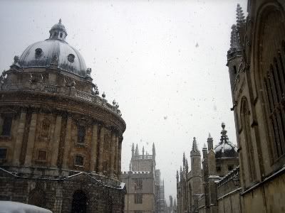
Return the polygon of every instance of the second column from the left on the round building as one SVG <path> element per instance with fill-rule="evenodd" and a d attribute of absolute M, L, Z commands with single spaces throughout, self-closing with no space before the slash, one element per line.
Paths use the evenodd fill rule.
<path fill-rule="evenodd" d="M 31 114 L 31 124 L 28 130 L 28 143 L 26 148 L 25 165 L 31 165 L 31 159 L 33 158 L 33 144 L 35 143 L 37 117 L 37 113 L 33 112 Z"/>

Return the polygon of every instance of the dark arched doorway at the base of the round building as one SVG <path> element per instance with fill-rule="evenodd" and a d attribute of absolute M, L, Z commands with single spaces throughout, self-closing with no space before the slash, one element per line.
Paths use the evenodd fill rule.
<path fill-rule="evenodd" d="M 73 193 L 71 213 L 86 213 L 87 197 L 82 190 Z"/>

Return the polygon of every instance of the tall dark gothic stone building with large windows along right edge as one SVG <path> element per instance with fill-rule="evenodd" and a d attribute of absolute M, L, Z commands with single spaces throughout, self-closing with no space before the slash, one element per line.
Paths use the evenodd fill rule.
<path fill-rule="evenodd" d="M 242 212 L 285 212 L 285 2 L 249 0 L 247 12 L 227 53 Z"/>

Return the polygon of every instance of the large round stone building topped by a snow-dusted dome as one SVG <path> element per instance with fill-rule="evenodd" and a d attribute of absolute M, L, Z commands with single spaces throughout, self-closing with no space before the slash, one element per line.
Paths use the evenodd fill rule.
<path fill-rule="evenodd" d="M 0 77 L 0 200 L 53 212 L 123 212 L 125 121 L 56 23 Z"/>

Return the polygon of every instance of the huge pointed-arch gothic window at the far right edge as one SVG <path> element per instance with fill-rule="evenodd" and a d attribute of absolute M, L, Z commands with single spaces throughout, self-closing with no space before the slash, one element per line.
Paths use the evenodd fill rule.
<path fill-rule="evenodd" d="M 260 16 L 258 84 L 263 94 L 271 163 L 275 163 L 285 155 L 285 18 L 275 6 L 268 6 Z"/>

